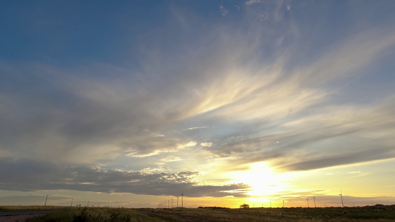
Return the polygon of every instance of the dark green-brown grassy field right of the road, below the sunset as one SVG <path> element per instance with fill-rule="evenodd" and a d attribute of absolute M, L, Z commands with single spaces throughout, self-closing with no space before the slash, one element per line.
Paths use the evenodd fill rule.
<path fill-rule="evenodd" d="M 395 221 L 395 205 L 327 208 L 244 208 L 221 207 L 128 209 L 53 207 L 51 213 L 30 222 L 389 222 Z M 37 210 L 37 209 L 36 209 Z M 40 207 L 40 210 L 41 209 Z M 19 210 L 18 210 L 19 211 Z"/>

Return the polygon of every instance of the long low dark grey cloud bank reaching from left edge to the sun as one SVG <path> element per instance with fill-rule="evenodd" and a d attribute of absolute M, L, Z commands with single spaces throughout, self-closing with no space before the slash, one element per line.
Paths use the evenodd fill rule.
<path fill-rule="evenodd" d="M 0 172 L 4 180 L 0 190 L 76 190 L 86 192 L 177 195 L 187 197 L 248 197 L 246 184 L 199 185 L 199 172 L 149 173 L 107 170 L 100 167 L 56 166 L 31 160 L 2 158 Z M 235 191 L 235 192 L 233 192 Z"/>

